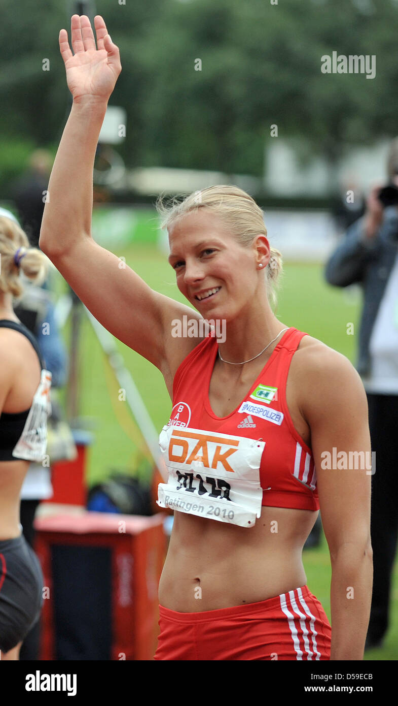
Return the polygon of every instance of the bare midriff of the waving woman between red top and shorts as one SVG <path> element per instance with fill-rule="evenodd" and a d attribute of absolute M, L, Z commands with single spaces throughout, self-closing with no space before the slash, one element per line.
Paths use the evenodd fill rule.
<path fill-rule="evenodd" d="M 175 510 L 159 603 L 197 613 L 265 601 L 306 585 L 301 553 L 317 515 L 263 507 L 254 527 L 238 527 Z"/>

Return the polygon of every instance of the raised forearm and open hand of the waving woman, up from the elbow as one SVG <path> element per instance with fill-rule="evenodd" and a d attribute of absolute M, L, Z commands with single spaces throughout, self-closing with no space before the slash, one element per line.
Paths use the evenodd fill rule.
<path fill-rule="evenodd" d="M 71 21 L 73 55 L 66 30 L 59 48 L 73 106 L 49 180 L 40 248 L 58 256 L 91 232 L 92 173 L 106 105 L 122 67 L 118 47 L 111 42 L 101 17 L 94 19 L 98 49 L 86 16 Z"/>

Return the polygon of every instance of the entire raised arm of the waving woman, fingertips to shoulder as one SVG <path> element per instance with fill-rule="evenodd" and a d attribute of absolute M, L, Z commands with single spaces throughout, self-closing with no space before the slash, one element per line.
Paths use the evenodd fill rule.
<path fill-rule="evenodd" d="M 92 174 L 108 99 L 121 71 L 119 50 L 96 16 L 97 49 L 86 16 L 71 20 L 72 54 L 66 30 L 59 46 L 73 106 L 58 147 L 44 206 L 39 246 L 70 287 L 113 335 L 170 378 L 194 339 L 173 338 L 171 321 L 188 306 L 154 292 L 91 235 Z"/>

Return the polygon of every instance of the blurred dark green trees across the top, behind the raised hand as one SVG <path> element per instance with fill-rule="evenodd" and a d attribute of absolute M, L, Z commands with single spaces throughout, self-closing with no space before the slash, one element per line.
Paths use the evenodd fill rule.
<path fill-rule="evenodd" d="M 1 0 L 0 146 L 18 144 L 15 165 L 0 150 L 2 189 L 31 145 L 61 137 L 70 97 L 58 32 L 70 34 L 68 7 Z M 330 162 L 347 143 L 392 136 L 397 11 L 397 0 L 97 0 L 123 66 L 110 101 L 128 112 L 118 150 L 130 166 L 261 175 L 271 124 L 304 138 L 304 156 Z M 333 51 L 375 54 L 375 78 L 321 73 Z"/>

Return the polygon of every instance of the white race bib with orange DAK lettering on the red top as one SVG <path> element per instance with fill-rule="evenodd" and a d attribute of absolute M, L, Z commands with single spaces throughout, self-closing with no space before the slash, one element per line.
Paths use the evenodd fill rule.
<path fill-rule="evenodd" d="M 168 482 L 159 484 L 157 504 L 253 527 L 261 515 L 260 462 L 265 445 L 243 436 L 163 426 L 159 446 Z"/>

